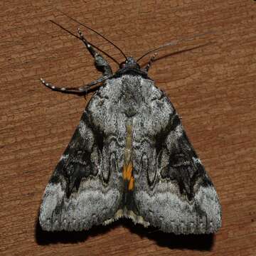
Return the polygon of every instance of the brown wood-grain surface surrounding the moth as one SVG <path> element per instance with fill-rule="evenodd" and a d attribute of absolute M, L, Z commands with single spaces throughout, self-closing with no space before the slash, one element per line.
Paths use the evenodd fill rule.
<path fill-rule="evenodd" d="M 215 183 L 223 206 L 216 235 L 175 236 L 129 220 L 80 233 L 38 226 L 41 196 L 86 103 L 48 90 L 39 78 L 67 86 L 99 75 L 82 43 L 50 23 L 76 33 L 78 24 L 57 9 L 137 58 L 204 34 L 159 52 L 149 74 L 171 97 Z M 82 31 L 123 60 L 102 38 Z M 255 1 L 1 1 L 0 255 L 256 255 L 255 80 Z"/>

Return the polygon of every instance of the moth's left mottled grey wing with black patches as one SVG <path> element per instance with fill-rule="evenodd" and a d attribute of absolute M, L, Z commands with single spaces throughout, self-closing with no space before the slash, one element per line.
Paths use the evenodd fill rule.
<path fill-rule="evenodd" d="M 122 179 L 103 134 L 84 112 L 46 187 L 39 221 L 43 230 L 83 230 L 111 220 L 122 201 Z"/>

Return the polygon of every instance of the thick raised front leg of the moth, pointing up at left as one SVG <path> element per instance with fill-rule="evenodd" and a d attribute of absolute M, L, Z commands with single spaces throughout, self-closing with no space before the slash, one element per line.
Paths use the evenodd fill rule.
<path fill-rule="evenodd" d="M 107 60 L 105 60 L 105 58 L 103 58 L 100 53 L 97 53 L 95 48 L 93 48 L 90 45 L 90 43 L 88 43 L 88 41 L 85 39 L 85 37 L 83 36 L 83 34 L 82 34 L 82 32 L 80 31 L 79 28 L 78 28 L 78 33 L 79 33 L 80 39 L 85 44 L 87 50 L 90 51 L 90 54 L 95 59 L 96 68 L 103 73 L 103 76 L 105 76 L 105 75 L 107 75 L 107 76 L 112 75 L 113 74 L 112 73 L 112 69 L 110 67 L 110 64 L 107 62 Z"/>

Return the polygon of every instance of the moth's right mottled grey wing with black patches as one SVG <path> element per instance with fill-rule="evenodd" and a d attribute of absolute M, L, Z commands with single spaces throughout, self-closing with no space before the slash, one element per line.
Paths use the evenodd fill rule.
<path fill-rule="evenodd" d="M 148 140 L 143 154 L 135 152 L 141 157 L 134 183 L 137 214 L 168 233 L 214 233 L 221 226 L 221 207 L 213 183 L 171 102 L 163 94 L 154 102 L 161 110 L 154 114 L 161 129 Z M 169 113 L 168 122 L 161 120 L 161 113 Z M 156 128 L 155 124 L 149 131 Z"/>

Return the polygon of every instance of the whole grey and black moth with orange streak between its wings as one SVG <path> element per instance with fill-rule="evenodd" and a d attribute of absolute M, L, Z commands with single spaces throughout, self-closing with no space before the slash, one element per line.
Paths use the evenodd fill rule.
<path fill-rule="evenodd" d="M 174 105 L 149 78 L 155 55 L 141 68 L 122 53 L 125 60 L 112 73 L 78 33 L 102 77 L 82 87 L 41 79 L 60 92 L 85 94 L 96 87 L 46 186 L 41 228 L 88 230 L 124 217 L 166 233 L 215 233 L 221 226 L 218 195 Z"/>

